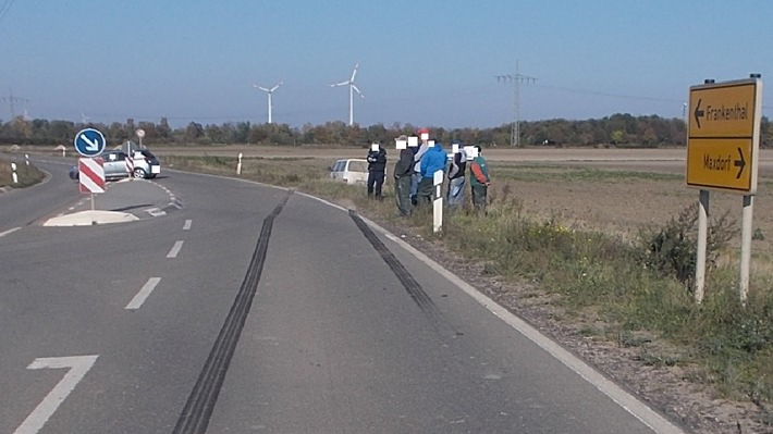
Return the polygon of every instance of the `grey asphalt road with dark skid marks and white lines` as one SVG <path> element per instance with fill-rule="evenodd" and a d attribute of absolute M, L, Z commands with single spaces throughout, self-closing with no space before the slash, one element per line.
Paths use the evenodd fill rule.
<path fill-rule="evenodd" d="M 84 204 L 40 164 L 0 195 L 0 432 L 680 432 L 347 210 L 167 171 L 165 214 L 47 227 Z"/>

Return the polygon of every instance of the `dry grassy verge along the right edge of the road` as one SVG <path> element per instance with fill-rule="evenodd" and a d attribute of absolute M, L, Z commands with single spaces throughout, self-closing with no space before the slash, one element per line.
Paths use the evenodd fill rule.
<path fill-rule="evenodd" d="M 236 159 L 169 157 L 181 170 L 235 175 Z M 363 187 L 327 178 L 319 160 L 246 160 L 242 177 L 296 188 L 332 200 L 345 200 L 376 221 L 395 222 L 390 188 L 383 202 L 368 201 Z M 640 360 L 658 365 L 690 365 L 696 382 L 711 385 L 720 396 L 751 400 L 768 420 L 773 413 L 773 293 L 770 273 L 752 276 L 750 298 L 740 306 L 736 270 L 713 261 L 707 297 L 698 306 L 691 294 L 694 256 L 691 211 L 676 215 L 665 227 L 642 231 L 623 240 L 609 233 L 580 231 L 557 219 L 540 219 L 525 211 L 507 185 L 519 179 L 564 181 L 673 178 L 635 172 L 553 168 L 496 168 L 498 196 L 484 215 L 469 209 L 450 213 L 442 236 L 431 233 L 429 215 L 416 213 L 409 225 L 427 238 L 483 264 L 488 274 L 512 282 L 528 281 L 574 321 L 585 321 L 581 333 L 640 348 Z M 391 183 L 388 183 L 391 185 Z M 722 221 L 712 223 L 712 258 L 727 255 Z M 724 234 L 723 234 L 724 233 Z M 694 269 L 692 269 L 694 270 Z M 646 337 L 642 337 L 646 336 Z M 653 340 L 667 346 L 649 345 Z M 663 349 L 667 348 L 667 349 Z"/>

